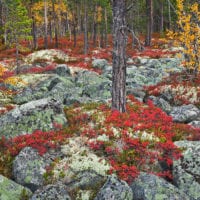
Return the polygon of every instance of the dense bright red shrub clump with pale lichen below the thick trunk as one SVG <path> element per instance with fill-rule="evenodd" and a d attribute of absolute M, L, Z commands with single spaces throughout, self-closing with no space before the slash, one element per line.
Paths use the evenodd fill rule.
<path fill-rule="evenodd" d="M 83 128 L 88 145 L 110 162 L 110 173 L 131 182 L 139 171 L 171 177 L 170 171 L 162 171 L 159 162 L 170 168 L 173 159 L 180 157 L 173 144 L 175 132 L 172 118 L 152 103 L 143 105 L 130 97 L 127 112 L 110 111 L 103 106 L 91 118 L 94 122 Z M 97 117 L 98 115 L 98 117 Z"/>

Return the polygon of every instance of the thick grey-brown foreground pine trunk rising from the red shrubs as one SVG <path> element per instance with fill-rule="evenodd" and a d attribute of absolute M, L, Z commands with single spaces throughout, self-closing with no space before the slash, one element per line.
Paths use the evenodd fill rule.
<path fill-rule="evenodd" d="M 112 110 L 126 111 L 126 0 L 113 0 Z"/>

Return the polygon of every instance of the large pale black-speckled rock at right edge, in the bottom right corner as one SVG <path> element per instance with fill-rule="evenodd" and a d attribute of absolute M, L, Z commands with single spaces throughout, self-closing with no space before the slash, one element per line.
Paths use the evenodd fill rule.
<path fill-rule="evenodd" d="M 183 157 L 173 163 L 173 182 L 192 199 L 200 199 L 200 142 L 178 141 Z"/>

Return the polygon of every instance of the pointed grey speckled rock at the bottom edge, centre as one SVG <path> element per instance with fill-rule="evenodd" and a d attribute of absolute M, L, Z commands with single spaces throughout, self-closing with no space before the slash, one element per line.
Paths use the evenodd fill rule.
<path fill-rule="evenodd" d="M 125 181 L 109 176 L 95 200 L 133 200 L 131 188 Z"/>

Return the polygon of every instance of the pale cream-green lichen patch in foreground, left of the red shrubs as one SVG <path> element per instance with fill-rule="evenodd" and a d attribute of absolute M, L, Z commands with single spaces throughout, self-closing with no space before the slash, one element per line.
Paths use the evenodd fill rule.
<path fill-rule="evenodd" d="M 70 179 L 76 172 L 93 170 L 105 176 L 110 169 L 108 162 L 96 154 L 84 144 L 85 138 L 70 138 L 68 144 L 62 146 L 62 153 L 67 157 L 56 164 L 53 172 L 55 177 L 59 177 L 61 171 Z"/>

